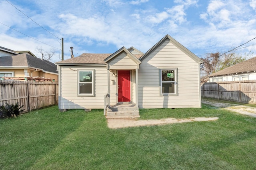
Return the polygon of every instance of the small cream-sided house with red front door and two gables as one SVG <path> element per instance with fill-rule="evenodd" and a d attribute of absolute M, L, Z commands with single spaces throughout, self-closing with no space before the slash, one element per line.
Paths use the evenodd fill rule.
<path fill-rule="evenodd" d="M 200 62 L 170 35 L 146 53 L 122 47 L 59 61 L 59 109 L 201 107 Z"/>

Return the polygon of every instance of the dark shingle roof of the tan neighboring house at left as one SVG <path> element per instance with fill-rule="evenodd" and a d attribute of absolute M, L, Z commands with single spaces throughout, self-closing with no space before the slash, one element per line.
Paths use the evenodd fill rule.
<path fill-rule="evenodd" d="M 58 74 L 56 65 L 28 54 L 0 57 L 0 68 L 33 68 Z"/>

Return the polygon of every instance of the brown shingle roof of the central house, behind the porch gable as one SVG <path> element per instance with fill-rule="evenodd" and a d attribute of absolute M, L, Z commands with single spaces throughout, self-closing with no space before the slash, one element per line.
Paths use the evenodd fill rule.
<path fill-rule="evenodd" d="M 108 58 L 112 54 L 90 54 L 83 53 L 82 55 L 70 59 L 66 59 L 63 61 L 56 62 L 56 64 L 106 64 L 104 59 Z M 137 59 L 142 55 L 135 54 Z"/>

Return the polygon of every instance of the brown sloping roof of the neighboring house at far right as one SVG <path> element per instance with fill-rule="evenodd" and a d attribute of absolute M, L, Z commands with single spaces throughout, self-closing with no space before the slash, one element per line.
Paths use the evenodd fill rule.
<path fill-rule="evenodd" d="M 256 71 L 256 57 L 243 61 L 241 63 L 238 63 L 234 66 L 230 66 L 228 68 L 225 68 L 213 74 L 210 74 L 208 75 L 208 77 L 227 75 L 227 74 L 236 74 L 236 73 L 242 73 L 242 72 L 251 72 L 251 71 Z"/>

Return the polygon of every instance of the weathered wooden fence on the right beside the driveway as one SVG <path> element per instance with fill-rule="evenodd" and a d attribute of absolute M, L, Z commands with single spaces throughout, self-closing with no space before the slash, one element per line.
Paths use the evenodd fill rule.
<path fill-rule="evenodd" d="M 256 80 L 201 83 L 201 96 L 256 104 Z"/>

